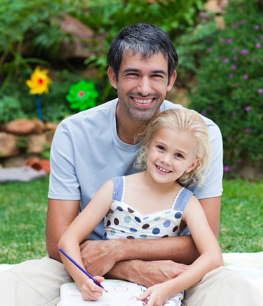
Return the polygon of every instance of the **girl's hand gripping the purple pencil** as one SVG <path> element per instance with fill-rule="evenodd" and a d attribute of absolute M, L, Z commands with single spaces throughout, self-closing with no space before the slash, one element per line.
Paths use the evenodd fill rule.
<path fill-rule="evenodd" d="M 104 277 L 101 276 L 95 276 L 94 279 L 99 283 L 104 281 Z M 87 278 L 82 284 L 80 291 L 84 301 L 96 301 L 98 297 L 102 296 L 104 290 L 91 279 Z"/>

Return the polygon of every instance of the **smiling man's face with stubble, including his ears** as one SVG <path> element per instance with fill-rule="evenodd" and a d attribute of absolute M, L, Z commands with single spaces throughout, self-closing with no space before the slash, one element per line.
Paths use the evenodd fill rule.
<path fill-rule="evenodd" d="M 173 87 L 176 73 L 168 79 L 168 63 L 162 53 L 147 59 L 140 53 L 128 53 L 123 57 L 118 81 L 113 72 L 109 77 L 111 85 L 117 89 L 118 107 L 122 108 L 122 113 L 133 120 L 148 121 L 159 113 L 167 91 Z"/>

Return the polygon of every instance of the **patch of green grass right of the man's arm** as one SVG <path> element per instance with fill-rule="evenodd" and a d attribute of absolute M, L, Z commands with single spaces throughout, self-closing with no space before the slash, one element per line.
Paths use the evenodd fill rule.
<path fill-rule="evenodd" d="M 219 243 L 222 252 L 263 251 L 263 180 L 224 180 Z"/>

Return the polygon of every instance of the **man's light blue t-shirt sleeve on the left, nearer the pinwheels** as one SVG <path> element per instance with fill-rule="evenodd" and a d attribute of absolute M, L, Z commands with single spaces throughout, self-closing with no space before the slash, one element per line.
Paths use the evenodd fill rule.
<path fill-rule="evenodd" d="M 81 198 L 80 184 L 75 171 L 72 137 L 65 122 L 62 121 L 55 131 L 50 150 L 49 198 L 64 200 Z"/>

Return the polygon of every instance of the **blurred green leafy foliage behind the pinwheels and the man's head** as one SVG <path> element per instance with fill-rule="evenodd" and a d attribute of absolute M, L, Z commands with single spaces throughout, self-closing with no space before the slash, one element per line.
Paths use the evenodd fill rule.
<path fill-rule="evenodd" d="M 2 0 L 0 99 L 13 96 L 26 116 L 36 116 L 35 98 L 28 94 L 25 81 L 40 65 L 50 70 L 52 79 L 50 92 L 41 97 L 45 121 L 59 121 L 72 113 L 65 97 L 70 85 L 81 79 L 95 83 L 100 92 L 96 102 L 104 103 L 115 97 L 107 77 L 107 52 L 119 30 L 135 22 L 152 22 L 175 36 L 196 24 L 204 2 L 189 0 L 186 5 L 184 0 L 156 0 L 154 3 L 147 0 Z M 60 28 L 60 19 L 65 13 L 96 32 L 97 39 L 90 39 L 87 45 L 94 55 L 86 60 L 86 66 L 98 71 L 92 79 L 83 75 L 83 63 L 76 66 L 60 58 L 62 42 L 74 48 L 72 37 L 62 33 Z"/>

